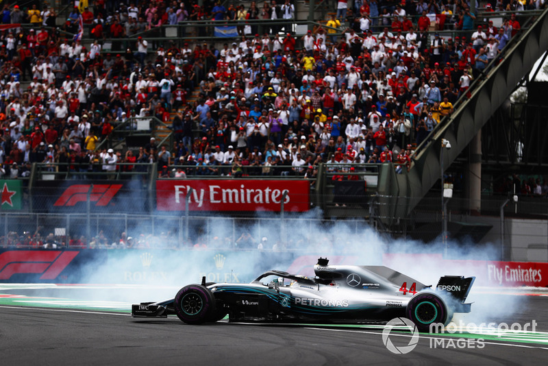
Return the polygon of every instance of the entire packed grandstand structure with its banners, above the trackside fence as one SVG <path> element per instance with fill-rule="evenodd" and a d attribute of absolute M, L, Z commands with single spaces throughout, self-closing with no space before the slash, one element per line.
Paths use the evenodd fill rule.
<path fill-rule="evenodd" d="M 416 212 L 439 221 L 440 192 L 432 187 L 440 176 L 456 193 L 449 210 L 498 212 L 493 190 L 492 204 L 478 203 L 482 165 L 464 162 L 482 161 L 481 149 L 470 151 L 481 145 L 477 133 L 547 49 L 544 1 L 356 4 L 9 6 L 0 37 L 4 227 L 16 221 L 8 210 L 37 222 L 48 212 L 180 215 L 188 214 L 185 199 L 196 214 L 253 215 L 257 205 L 188 200 L 212 186 L 241 185 L 247 191 L 230 196 L 241 204 L 266 181 L 287 185 L 293 200 L 279 206 L 279 188 L 268 206 L 264 192 L 261 209 L 319 207 L 325 218 L 366 217 L 397 234 L 416 228 Z M 453 149 L 442 160 L 443 139 Z M 518 141 L 523 134 L 509 143 Z M 545 213 L 535 206 L 548 194 L 545 172 L 518 158 L 508 158 L 519 167 L 516 194 L 533 202 L 522 213 Z M 490 169 L 487 185 L 510 180 Z M 183 185 L 176 204 L 162 201 L 162 189 Z M 65 227 L 86 223 L 77 220 Z M 87 225 L 78 234 L 89 238 Z"/>

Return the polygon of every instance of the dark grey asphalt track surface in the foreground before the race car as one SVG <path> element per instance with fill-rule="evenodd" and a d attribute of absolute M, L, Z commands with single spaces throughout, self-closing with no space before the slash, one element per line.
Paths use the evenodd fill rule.
<path fill-rule="evenodd" d="M 501 304 L 504 299 L 508 295 Z M 505 320 L 536 319 L 537 332 L 548 332 L 548 297 L 527 296 L 523 304 Z M 491 337 L 482 348 L 434 349 L 431 339 L 441 337 L 421 334 L 412 352 L 393 354 L 379 328 L 226 321 L 188 326 L 176 317 L 8 305 L 0 306 L 0 317 L 2 365 L 542 365 L 548 358 L 548 336 L 534 342 Z M 466 342 L 477 346 L 473 338 Z"/>

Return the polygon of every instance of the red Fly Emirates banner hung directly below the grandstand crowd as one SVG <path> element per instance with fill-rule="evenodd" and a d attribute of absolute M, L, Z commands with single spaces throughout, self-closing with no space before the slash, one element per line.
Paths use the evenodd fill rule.
<path fill-rule="evenodd" d="M 158 180 L 156 208 L 184 211 L 188 193 L 191 211 L 308 211 L 310 184 L 306 180 Z"/>

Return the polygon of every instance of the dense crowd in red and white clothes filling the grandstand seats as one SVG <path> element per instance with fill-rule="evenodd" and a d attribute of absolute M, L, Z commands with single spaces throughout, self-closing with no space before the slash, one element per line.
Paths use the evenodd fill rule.
<path fill-rule="evenodd" d="M 158 26 L 197 19 L 293 19 L 295 5 L 272 0 L 259 10 L 254 2 L 245 9 L 210 1 L 198 6 L 99 0 L 92 10 L 74 8 L 62 27 L 78 34 L 82 16 L 92 27 L 90 45 L 49 28 L 57 15 L 46 5 L 25 11 L 4 5 L 0 175 L 28 175 L 32 162 L 65 163 L 55 169 L 79 171 L 158 162 L 164 178 L 311 178 L 319 162 L 330 163 L 332 171 L 351 171 L 335 164 L 395 161 L 403 171 L 412 148 L 452 112 L 520 29 L 515 14 L 499 29 L 492 23 L 474 27 L 479 19 L 465 1 L 356 1 L 356 12 L 342 4 L 338 1 L 327 27 L 305 36 L 295 38 L 290 23 L 262 35 L 238 26 L 240 39 L 221 47 L 214 42 L 177 47 L 158 40 Z M 516 4 L 521 2 L 487 5 L 543 6 Z M 445 12 L 445 27 L 470 32 L 440 37 L 427 23 L 433 11 Z M 282 29 L 285 33 L 277 32 Z M 136 41 L 124 41 L 125 51 L 101 50 L 106 38 L 137 34 Z M 198 101 L 187 103 L 198 87 Z M 158 146 L 151 138 L 138 151 L 97 150 L 129 117 L 166 121 L 170 112 L 175 112 L 173 146 Z"/>

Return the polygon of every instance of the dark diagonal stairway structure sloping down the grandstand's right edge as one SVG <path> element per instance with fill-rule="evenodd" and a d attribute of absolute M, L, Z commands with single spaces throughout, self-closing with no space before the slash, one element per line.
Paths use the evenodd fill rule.
<path fill-rule="evenodd" d="M 484 79 L 475 82 L 470 97 L 436 126 L 430 141 L 417 147 L 409 172 L 396 174 L 393 164 L 382 164 L 377 189 L 382 223 L 393 225 L 408 217 L 440 180 L 442 139 L 447 139 L 452 145 L 443 153 L 443 167 L 449 167 L 545 53 L 548 49 L 548 9 L 532 20 L 519 38 L 512 38 L 506 47 L 506 57 Z"/>

